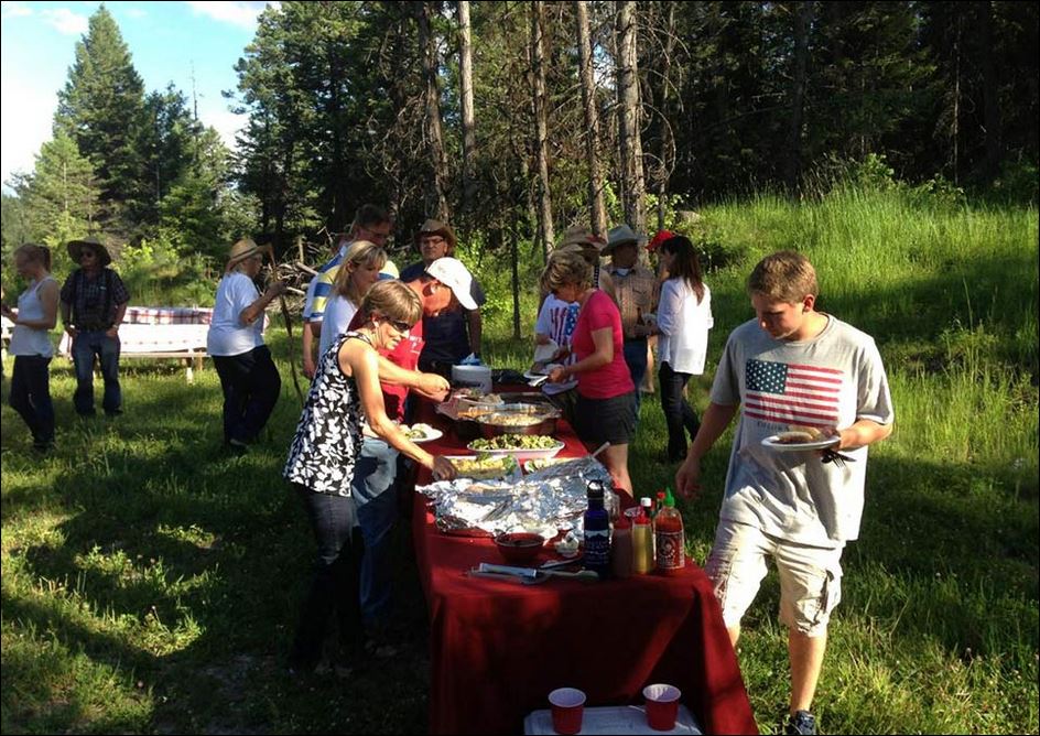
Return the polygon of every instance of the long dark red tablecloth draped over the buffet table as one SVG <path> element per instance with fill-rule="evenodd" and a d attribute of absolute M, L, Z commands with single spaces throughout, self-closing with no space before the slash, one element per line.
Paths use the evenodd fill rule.
<path fill-rule="evenodd" d="M 465 454 L 451 423 L 440 426 L 444 436 L 426 450 Z M 585 452 L 563 422 L 557 436 L 566 442 L 562 456 Z M 419 484 L 429 481 L 420 473 Z M 641 703 L 643 685 L 654 682 L 679 686 L 705 733 L 758 733 L 718 604 L 696 565 L 671 577 L 521 585 L 467 576 L 480 562 L 501 563 L 498 551 L 487 538 L 437 531 L 421 494 L 412 524 L 430 608 L 431 733 L 520 733 L 554 688 L 579 688 L 587 706 L 621 705 Z"/>

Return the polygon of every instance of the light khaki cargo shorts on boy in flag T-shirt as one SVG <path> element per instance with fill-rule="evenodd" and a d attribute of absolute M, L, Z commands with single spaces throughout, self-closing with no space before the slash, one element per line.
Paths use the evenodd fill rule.
<path fill-rule="evenodd" d="M 780 574 L 780 621 L 805 636 L 826 634 L 831 611 L 842 598 L 842 551 L 797 544 L 757 527 L 719 519 L 705 571 L 727 628 L 751 606 L 770 556 Z"/>

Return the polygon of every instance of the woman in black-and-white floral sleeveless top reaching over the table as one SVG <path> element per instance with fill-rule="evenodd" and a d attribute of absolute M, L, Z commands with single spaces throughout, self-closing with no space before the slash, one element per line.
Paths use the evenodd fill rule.
<path fill-rule="evenodd" d="M 290 668 L 313 670 L 322 657 L 328 616 L 339 616 L 339 661 L 360 653 L 358 570 L 364 552 L 350 496 L 361 453 L 361 425 L 392 447 L 453 478 L 455 468 L 411 442 L 388 416 L 379 387 L 377 349 L 392 350 L 422 317 L 422 303 L 400 281 L 382 281 L 361 302 L 366 323 L 343 335 L 318 361 L 283 475 L 304 502 L 318 543 L 314 581 L 303 604 Z"/>

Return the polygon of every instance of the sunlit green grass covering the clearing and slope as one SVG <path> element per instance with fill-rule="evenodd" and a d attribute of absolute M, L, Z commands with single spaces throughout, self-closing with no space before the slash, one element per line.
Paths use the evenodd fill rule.
<path fill-rule="evenodd" d="M 853 192 L 702 216 L 702 235 L 726 256 L 706 277 L 709 365 L 751 316 L 750 267 L 793 246 L 820 271 L 821 307 L 874 335 L 889 370 L 896 432 L 871 450 L 860 539 L 844 558 L 815 706 L 822 728 L 1037 733 L 1036 209 L 930 209 Z M 499 295 L 508 289 L 508 273 L 486 281 Z M 527 340 L 534 297 L 523 304 Z M 492 365 L 527 364 L 508 309 L 490 311 L 486 334 Z M 284 335 L 270 340 L 284 356 Z M 2 730 L 425 730 L 425 610 L 403 530 L 403 656 L 345 683 L 283 674 L 313 544 L 280 479 L 299 415 L 284 361 L 268 436 L 240 458 L 218 448 L 212 367 L 191 386 L 169 364 L 123 367 L 127 413 L 80 422 L 68 366 L 55 361 L 58 450 L 46 459 L 2 410 Z M 711 379 L 690 386 L 700 409 Z M 657 397 L 647 398 L 637 494 L 672 481 L 664 434 Z M 703 496 L 683 505 L 697 562 L 714 535 L 729 440 L 705 461 Z M 778 600 L 770 575 L 738 648 L 763 730 L 788 696 Z"/>

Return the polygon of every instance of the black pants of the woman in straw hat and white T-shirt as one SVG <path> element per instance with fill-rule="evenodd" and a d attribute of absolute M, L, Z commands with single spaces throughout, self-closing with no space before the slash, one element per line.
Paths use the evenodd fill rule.
<path fill-rule="evenodd" d="M 224 389 L 224 442 L 252 442 L 268 423 L 282 379 L 267 345 L 241 355 L 215 355 L 213 365 Z"/>

